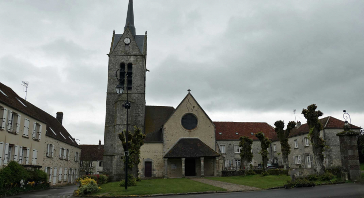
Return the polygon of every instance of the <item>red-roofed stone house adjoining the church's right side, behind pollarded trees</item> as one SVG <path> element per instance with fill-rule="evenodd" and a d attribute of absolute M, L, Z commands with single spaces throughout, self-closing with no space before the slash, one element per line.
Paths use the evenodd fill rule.
<path fill-rule="evenodd" d="M 239 169 L 240 167 L 240 147 L 239 138 L 246 136 L 253 140 L 251 164 L 258 167 L 262 163 L 260 141 L 255 134 L 263 132 L 266 137 L 275 137 L 274 128 L 266 122 L 213 122 L 216 126 L 216 142 L 220 147 L 224 157 L 225 169 Z"/>

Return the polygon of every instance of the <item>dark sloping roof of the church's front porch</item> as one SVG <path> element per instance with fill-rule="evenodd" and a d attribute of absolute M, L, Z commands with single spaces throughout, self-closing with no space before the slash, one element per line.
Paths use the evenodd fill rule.
<path fill-rule="evenodd" d="M 181 138 L 164 156 L 164 158 L 217 157 L 216 151 L 198 138 Z"/>

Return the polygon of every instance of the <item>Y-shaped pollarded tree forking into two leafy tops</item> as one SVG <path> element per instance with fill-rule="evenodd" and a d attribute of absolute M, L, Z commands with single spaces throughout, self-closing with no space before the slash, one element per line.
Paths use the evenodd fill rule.
<path fill-rule="evenodd" d="M 277 120 L 276 122 L 274 122 L 274 126 L 276 127 L 274 131 L 277 133 L 279 143 L 281 144 L 284 169 L 288 170 L 288 155 L 291 153 L 291 147 L 288 144 L 288 136 L 291 130 L 296 126 L 296 122 L 288 122 L 286 130 L 283 129 L 284 122 L 282 120 Z"/>

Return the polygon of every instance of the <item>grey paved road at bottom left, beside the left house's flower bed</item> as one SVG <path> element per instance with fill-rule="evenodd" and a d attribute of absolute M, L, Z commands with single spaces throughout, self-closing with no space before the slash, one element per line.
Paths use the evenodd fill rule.
<path fill-rule="evenodd" d="M 77 185 L 69 185 L 59 188 L 52 188 L 45 191 L 36 191 L 32 193 L 11 196 L 7 198 L 75 198 L 72 196 Z"/>

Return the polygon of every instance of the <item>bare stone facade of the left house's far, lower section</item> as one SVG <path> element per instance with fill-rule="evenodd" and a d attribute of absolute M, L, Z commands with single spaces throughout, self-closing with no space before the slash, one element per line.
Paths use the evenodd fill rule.
<path fill-rule="evenodd" d="M 53 157 L 52 156 L 47 157 L 48 144 L 54 145 Z M 70 154 L 69 154 L 69 159 L 68 160 L 59 158 L 59 149 L 60 148 L 69 149 Z M 75 161 L 75 152 L 78 152 L 77 161 Z M 39 155 L 43 157 L 43 167 L 42 167 L 43 171 L 45 171 L 45 167 L 48 167 L 47 168 L 47 173 L 49 175 L 50 167 L 52 167 L 52 173 L 51 173 L 52 177 L 51 177 L 50 185 L 61 186 L 61 185 L 66 185 L 66 184 L 75 182 L 75 180 L 79 177 L 80 154 L 81 154 L 81 148 L 78 148 L 78 147 L 75 147 L 73 145 L 67 144 L 65 142 L 54 139 L 52 137 L 45 136 L 44 150 L 43 150 L 43 153 L 41 155 L 39 153 Z M 57 172 L 56 172 L 56 177 L 55 177 L 55 182 L 54 182 L 54 173 L 55 173 L 54 170 L 55 170 L 55 168 L 57 168 Z M 60 168 L 62 168 L 62 174 L 61 174 L 61 180 L 59 181 L 59 173 L 60 173 L 59 170 L 60 170 Z M 64 174 L 65 174 L 65 169 L 66 168 L 67 168 L 67 177 L 64 180 Z M 73 170 L 73 175 L 71 176 L 72 179 L 69 177 L 68 170 L 70 170 L 70 169 Z"/>

